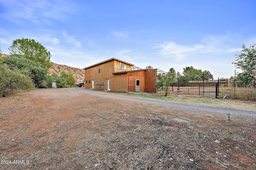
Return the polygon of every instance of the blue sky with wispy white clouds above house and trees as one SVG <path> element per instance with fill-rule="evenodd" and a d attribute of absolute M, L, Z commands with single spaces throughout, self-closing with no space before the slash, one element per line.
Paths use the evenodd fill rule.
<path fill-rule="evenodd" d="M 255 9 L 255 0 L 0 0 L 0 47 L 9 54 L 28 38 L 76 68 L 114 57 L 229 78 L 242 44 L 256 43 Z"/>

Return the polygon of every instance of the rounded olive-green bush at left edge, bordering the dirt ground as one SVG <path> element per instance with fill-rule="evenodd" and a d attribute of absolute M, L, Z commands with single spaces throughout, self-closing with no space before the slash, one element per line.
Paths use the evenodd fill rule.
<path fill-rule="evenodd" d="M 31 78 L 22 74 L 20 70 L 10 70 L 6 64 L 0 64 L 0 77 L 0 97 L 34 88 Z"/>

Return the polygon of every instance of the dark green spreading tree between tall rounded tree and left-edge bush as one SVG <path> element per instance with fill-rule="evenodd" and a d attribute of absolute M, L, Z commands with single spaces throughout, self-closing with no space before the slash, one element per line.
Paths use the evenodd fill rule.
<path fill-rule="evenodd" d="M 11 70 L 19 69 L 21 72 L 34 80 L 37 87 L 40 87 L 40 82 L 45 78 L 47 69 L 42 68 L 42 64 L 32 60 L 19 57 L 5 57 L 4 63 L 8 64 Z"/>

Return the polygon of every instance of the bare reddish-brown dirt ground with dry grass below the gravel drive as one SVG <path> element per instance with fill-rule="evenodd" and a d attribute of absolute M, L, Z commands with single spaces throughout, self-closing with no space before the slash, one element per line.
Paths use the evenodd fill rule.
<path fill-rule="evenodd" d="M 66 88 L 0 98 L 0 169 L 256 169 L 255 122 L 109 94 Z"/>

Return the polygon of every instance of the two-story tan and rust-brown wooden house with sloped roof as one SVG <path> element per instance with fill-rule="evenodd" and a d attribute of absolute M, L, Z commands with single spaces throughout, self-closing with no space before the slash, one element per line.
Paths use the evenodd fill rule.
<path fill-rule="evenodd" d="M 115 58 L 83 68 L 85 88 L 115 92 L 156 92 L 157 69 L 140 69 Z"/>

